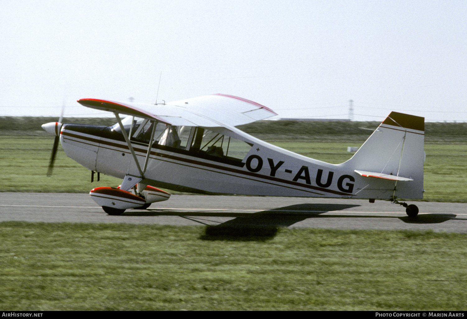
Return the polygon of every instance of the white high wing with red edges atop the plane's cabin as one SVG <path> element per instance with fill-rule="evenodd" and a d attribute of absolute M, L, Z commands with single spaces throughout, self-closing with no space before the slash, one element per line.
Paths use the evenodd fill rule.
<path fill-rule="evenodd" d="M 93 109 L 158 120 L 177 126 L 237 126 L 277 115 L 266 106 L 226 94 L 188 98 L 167 104 L 121 103 L 92 98 L 80 99 L 78 103 Z"/>

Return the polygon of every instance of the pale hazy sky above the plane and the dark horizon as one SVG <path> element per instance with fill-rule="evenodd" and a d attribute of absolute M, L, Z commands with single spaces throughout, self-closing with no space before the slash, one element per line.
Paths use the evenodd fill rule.
<path fill-rule="evenodd" d="M 244 97 L 280 117 L 467 121 L 462 0 L 0 0 L 0 116 Z M 112 116 L 109 114 L 109 116 Z"/>

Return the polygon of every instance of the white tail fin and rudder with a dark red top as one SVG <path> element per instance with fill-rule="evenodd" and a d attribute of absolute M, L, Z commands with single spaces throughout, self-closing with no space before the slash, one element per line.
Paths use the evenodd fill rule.
<path fill-rule="evenodd" d="M 391 112 L 342 166 L 368 179 L 364 193 L 394 183 L 396 198 L 423 198 L 425 118 Z M 375 196 L 378 198 L 378 196 Z"/>

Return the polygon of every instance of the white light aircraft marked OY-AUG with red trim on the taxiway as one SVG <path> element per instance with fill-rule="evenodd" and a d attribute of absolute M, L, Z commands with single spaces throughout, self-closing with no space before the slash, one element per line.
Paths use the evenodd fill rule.
<path fill-rule="evenodd" d="M 147 208 L 170 194 L 335 197 L 390 200 L 410 217 L 423 198 L 425 119 L 391 112 L 354 156 L 342 164 L 311 159 L 257 139 L 235 126 L 277 115 L 241 97 L 213 94 L 163 104 L 78 100 L 113 112 L 113 126 L 52 122 L 68 157 L 94 172 L 122 179 L 90 195 L 110 215 Z M 120 114 L 127 115 L 123 120 Z"/>

